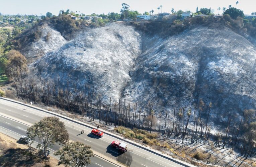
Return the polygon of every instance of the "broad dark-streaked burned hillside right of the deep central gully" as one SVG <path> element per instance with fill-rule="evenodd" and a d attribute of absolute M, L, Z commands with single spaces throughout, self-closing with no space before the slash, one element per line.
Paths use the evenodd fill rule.
<path fill-rule="evenodd" d="M 164 39 L 145 36 L 143 42 L 150 47 L 131 71 L 123 91 L 127 101 L 144 108 L 151 102 L 156 112 L 165 112 L 198 106 L 202 99 L 212 102 L 212 118 L 222 113 L 221 121 L 255 108 L 256 51 L 231 29 L 200 26 Z"/>

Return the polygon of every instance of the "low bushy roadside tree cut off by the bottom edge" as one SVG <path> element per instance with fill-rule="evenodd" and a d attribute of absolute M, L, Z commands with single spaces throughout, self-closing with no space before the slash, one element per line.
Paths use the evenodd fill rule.
<path fill-rule="evenodd" d="M 86 166 L 91 163 L 90 157 L 93 156 L 91 146 L 81 142 L 66 143 L 62 148 L 55 152 L 60 156 L 59 164 L 67 166 Z"/>

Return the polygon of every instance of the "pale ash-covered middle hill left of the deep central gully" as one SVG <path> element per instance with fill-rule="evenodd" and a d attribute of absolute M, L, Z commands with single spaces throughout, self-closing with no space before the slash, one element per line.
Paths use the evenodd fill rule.
<path fill-rule="evenodd" d="M 85 32 L 34 63 L 43 77 L 60 77 L 83 88 L 91 83 L 104 99 L 117 100 L 141 53 L 141 36 L 132 26 L 112 23 Z"/>

